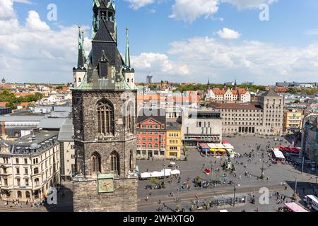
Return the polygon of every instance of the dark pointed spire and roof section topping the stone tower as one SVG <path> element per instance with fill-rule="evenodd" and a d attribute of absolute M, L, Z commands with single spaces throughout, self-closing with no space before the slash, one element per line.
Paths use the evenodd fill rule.
<path fill-rule="evenodd" d="M 117 24 L 114 1 L 93 0 L 92 50 L 86 60 L 86 73 L 78 90 L 135 89 L 134 69 L 131 69 L 126 33 L 125 60 L 117 48 Z M 79 56 L 80 58 L 81 56 Z"/>

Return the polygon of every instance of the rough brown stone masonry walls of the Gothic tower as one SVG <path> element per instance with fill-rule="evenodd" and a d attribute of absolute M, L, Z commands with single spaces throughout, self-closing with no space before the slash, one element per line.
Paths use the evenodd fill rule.
<path fill-rule="evenodd" d="M 73 90 L 77 173 L 86 178 L 74 179 L 73 182 L 73 206 L 76 212 L 137 210 L 138 179 L 131 174 L 136 168 L 136 131 L 128 131 L 126 126 L 122 110 L 126 106 L 126 95 L 136 99 L 136 91 Z M 108 100 L 114 108 L 114 136 L 98 133 L 96 104 L 100 100 Z M 119 155 L 119 174 L 110 170 L 110 155 L 113 151 Z M 114 193 L 98 194 L 97 175 L 92 170 L 91 162 L 93 153 L 100 155 L 102 174 L 115 174 Z"/>

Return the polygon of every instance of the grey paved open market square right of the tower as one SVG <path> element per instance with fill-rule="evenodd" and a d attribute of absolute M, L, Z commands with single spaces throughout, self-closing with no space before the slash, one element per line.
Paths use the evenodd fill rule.
<path fill-rule="evenodd" d="M 286 183 L 286 186 L 288 187 L 288 191 L 286 192 L 286 196 L 292 196 L 295 193 L 295 180 L 297 177 L 298 182 L 298 192 L 300 193 L 300 198 L 303 198 L 305 194 L 313 194 L 314 187 L 317 186 L 316 184 L 316 177 L 312 174 L 303 173 L 300 171 L 300 169 L 296 169 L 293 165 L 283 165 L 283 164 L 271 164 L 269 162 L 269 157 L 265 155 L 264 159 L 261 157 L 261 151 L 259 151 L 259 155 L 257 155 L 257 145 L 261 145 L 260 150 L 264 149 L 267 150 L 266 146 L 269 145 L 270 148 L 276 148 L 277 145 L 290 145 L 288 141 L 286 141 L 284 138 L 283 142 L 280 144 L 277 141 L 274 141 L 273 138 L 258 138 L 255 136 L 237 136 L 234 138 L 226 138 L 230 143 L 234 146 L 235 151 L 240 154 L 249 153 L 251 149 L 255 150 L 255 158 L 252 160 L 252 162 L 248 161 L 248 157 L 244 158 L 235 158 L 232 160 L 232 163 L 235 165 L 235 170 L 237 172 L 237 177 L 234 177 L 229 172 L 223 171 L 221 169 L 221 163 L 225 160 L 225 157 L 216 159 L 215 157 L 204 157 L 201 156 L 201 154 L 195 149 L 192 148 L 189 150 L 188 153 L 188 161 L 187 162 L 176 162 L 176 164 L 179 166 L 181 170 L 181 180 L 180 183 L 177 182 L 177 179 L 172 179 L 172 184 L 167 184 L 167 189 L 160 189 L 160 190 L 150 190 L 145 189 L 146 185 L 151 184 L 149 181 L 141 181 L 139 182 L 139 210 L 145 211 L 145 210 L 151 210 L 155 211 L 158 209 L 158 204 L 155 204 L 151 206 L 149 204 L 145 203 L 145 198 L 148 196 L 149 202 L 153 199 L 156 199 L 158 201 L 159 198 L 166 198 L 168 197 L 168 194 L 171 192 L 174 192 L 174 194 L 177 193 L 177 188 L 182 186 L 182 183 L 187 180 L 189 177 L 191 180 L 196 177 L 200 176 L 203 180 L 209 181 L 211 179 L 211 175 L 204 174 L 204 170 L 202 170 L 203 165 L 205 165 L 206 168 L 210 169 L 211 165 L 213 168 L 213 179 L 224 179 L 223 174 L 228 174 L 226 179 L 227 181 L 233 180 L 237 182 L 237 184 L 240 184 L 242 187 L 250 187 L 254 188 L 252 189 L 252 192 L 254 194 L 258 194 L 259 187 L 267 187 L 272 185 L 278 185 L 280 186 L 281 183 Z M 295 157 L 296 159 L 298 157 Z M 260 160 L 261 159 L 261 160 Z M 261 167 L 262 167 L 262 161 L 268 161 L 268 164 L 264 165 L 264 172 L 265 177 L 269 177 L 269 180 L 261 180 L 257 179 L 261 175 Z M 243 164 L 237 164 L 236 161 L 243 162 Z M 157 160 L 139 160 L 137 161 L 137 165 L 139 165 L 140 172 L 146 172 L 146 169 L 149 169 L 150 171 L 160 171 L 163 169 L 163 164 L 165 166 L 169 165 L 168 160 L 165 161 L 157 161 Z M 245 168 L 245 165 L 247 166 Z M 220 169 L 220 172 L 217 172 L 216 169 Z M 300 168 L 300 167 L 298 167 Z M 245 177 L 245 172 L 249 172 L 251 174 L 251 177 Z M 241 176 L 241 177 L 240 177 Z M 241 178 L 241 179 L 240 179 Z M 233 189 L 231 185 L 225 185 L 221 186 L 223 189 Z M 283 186 L 285 188 L 285 186 Z M 192 191 L 182 191 L 182 193 L 189 193 L 189 196 L 193 196 L 192 193 L 196 192 L 197 194 L 201 194 L 202 192 L 206 192 L 206 190 L 217 190 L 219 189 L 219 186 L 208 188 L 208 189 L 200 189 L 200 188 L 194 188 L 192 186 Z M 305 193 L 303 194 L 303 189 L 305 189 Z M 301 191 L 301 192 L 300 192 Z M 213 192 L 212 192 L 213 193 Z M 232 190 L 233 193 L 233 190 Z M 211 194 L 210 199 L 213 198 L 213 196 L 216 196 L 216 194 Z M 173 199 L 173 198 L 172 198 Z M 187 198 L 186 198 L 187 199 Z M 302 201 L 301 204 L 304 204 Z M 143 206 L 146 205 L 146 206 Z M 172 206 L 175 205 L 172 201 Z M 185 206 L 189 206 L 189 203 L 185 202 Z M 254 208 L 254 205 L 246 205 L 247 210 L 252 210 Z M 260 206 L 260 211 L 274 211 L 278 208 L 275 201 L 271 205 L 266 206 Z M 240 208 L 231 208 L 232 210 L 238 211 Z M 216 209 L 217 210 L 217 209 Z"/>

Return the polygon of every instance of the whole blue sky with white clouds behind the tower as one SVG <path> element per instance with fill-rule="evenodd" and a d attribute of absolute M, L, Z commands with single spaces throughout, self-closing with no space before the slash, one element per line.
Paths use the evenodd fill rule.
<path fill-rule="evenodd" d="M 92 0 L 16 1 L 0 0 L 0 8 L 12 10 L 6 16 L 0 9 L 0 41 L 14 37 L 13 44 L 0 47 L 0 76 L 11 82 L 71 82 L 77 25 L 87 28 L 90 48 Z M 52 3 L 57 21 L 47 20 Z M 263 3 L 269 21 L 259 20 Z M 155 81 L 318 81 L 317 0 L 117 0 L 116 7 L 119 50 L 124 53 L 128 26 L 136 81 L 149 72 Z"/>

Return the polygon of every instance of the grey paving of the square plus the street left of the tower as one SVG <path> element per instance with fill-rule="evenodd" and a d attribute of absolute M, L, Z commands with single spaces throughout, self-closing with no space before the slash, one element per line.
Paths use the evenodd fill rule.
<path fill-rule="evenodd" d="M 275 148 L 279 143 L 277 141 L 273 141 L 273 138 L 258 138 L 255 136 L 237 136 L 234 138 L 225 138 L 234 146 L 235 151 L 240 154 L 249 153 L 251 148 L 256 150 L 257 144 L 261 145 L 260 149 L 266 149 L 266 145 L 270 145 L 270 148 Z M 281 139 L 281 138 L 280 138 Z M 288 141 L 283 138 L 282 145 L 290 145 Z M 249 147 L 250 146 L 250 147 Z M 293 165 L 271 165 L 265 164 L 265 177 L 269 177 L 269 180 L 261 180 L 257 179 L 257 177 L 261 174 L 261 161 L 263 158 L 261 157 L 261 151 L 259 155 L 257 152 L 255 153 L 256 157 L 252 162 L 248 162 L 247 158 L 235 158 L 232 162 L 235 165 L 235 169 L 237 172 L 237 177 L 234 177 L 229 172 L 223 171 L 220 165 L 225 160 L 225 157 L 215 158 L 215 157 L 204 157 L 201 156 L 198 150 L 195 148 L 190 148 L 188 152 L 188 161 L 177 161 L 176 164 L 179 166 L 181 171 L 181 180 L 180 183 L 177 183 L 177 179 L 172 180 L 172 184 L 167 184 L 167 189 L 160 190 L 150 190 L 145 189 L 146 185 L 151 184 L 149 181 L 140 181 L 139 182 L 139 211 L 156 211 L 159 207 L 157 201 L 159 199 L 165 201 L 167 208 L 165 211 L 170 211 L 170 208 L 175 208 L 176 198 L 169 197 L 168 194 L 174 193 L 176 195 L 177 188 L 182 186 L 182 183 L 187 180 L 189 177 L 193 179 L 196 176 L 200 176 L 203 180 L 210 180 L 211 175 L 204 174 L 204 170 L 202 170 L 203 165 L 206 168 L 213 168 L 212 178 L 213 179 L 224 179 L 223 174 L 228 174 L 226 177 L 227 181 L 235 180 L 238 185 L 237 186 L 237 194 L 249 195 L 252 193 L 255 195 L 256 200 L 259 198 L 259 188 L 261 187 L 269 187 L 271 192 L 281 191 L 283 189 L 282 194 L 285 196 L 291 197 L 295 193 L 295 177 L 298 180 L 298 192 L 300 193 L 300 198 L 302 199 L 306 194 L 314 194 L 314 191 L 317 186 L 316 183 L 316 175 L 309 174 L 308 169 L 305 168 L 305 173 L 301 173 L 300 166 L 295 168 Z M 299 160 L 298 157 L 294 157 L 295 160 Z M 265 161 L 269 160 L 269 157 L 264 158 Z M 243 162 L 243 165 L 237 164 L 236 161 Z M 163 169 L 163 164 L 167 167 L 169 165 L 169 160 L 137 160 L 137 165 L 139 166 L 140 172 L 146 172 L 146 169 L 150 171 L 160 171 Z M 245 165 L 247 167 L 245 168 Z M 216 169 L 220 169 L 220 172 L 217 172 Z M 248 171 L 252 177 L 245 177 L 245 172 Z M 241 176 L 241 179 L 240 179 Z M 285 186 L 281 186 L 281 183 L 286 183 L 288 187 L 287 191 L 285 191 Z M 46 211 L 72 211 L 72 184 L 71 182 L 64 182 L 64 193 L 65 196 L 62 197 L 61 193 L 58 194 L 58 206 L 49 206 L 49 207 L 38 207 L 38 208 L 30 208 L 30 206 L 25 206 L 23 203 L 23 208 L 18 208 L 16 206 L 6 207 L 4 208 L 4 202 L 0 202 L 0 212 L 13 212 L 13 211 L 21 211 L 21 212 L 46 212 Z M 248 188 L 248 189 L 246 189 Z M 304 192 L 305 189 L 305 192 Z M 150 195 L 151 194 L 151 195 Z M 189 206 L 191 206 L 191 201 L 194 199 L 194 196 L 197 195 L 199 198 L 204 198 L 206 200 L 211 200 L 211 198 L 220 196 L 220 195 L 228 195 L 232 196 L 233 194 L 233 186 L 231 185 L 223 185 L 211 187 L 208 189 L 195 188 L 192 184 L 192 189 L 190 191 L 182 191 L 179 193 L 179 203 L 181 203 L 182 208 L 188 210 Z M 146 196 L 149 197 L 148 201 L 145 201 Z M 305 205 L 303 201 L 300 199 L 300 204 Z M 281 205 L 282 206 L 282 205 Z M 276 204 L 276 199 L 271 199 L 269 205 L 255 205 L 247 203 L 245 206 L 240 207 L 229 207 L 228 211 L 254 211 L 257 207 L 259 207 L 259 211 L 276 211 L 278 207 L 281 207 Z M 212 208 L 210 211 L 218 211 L 218 208 Z"/>

